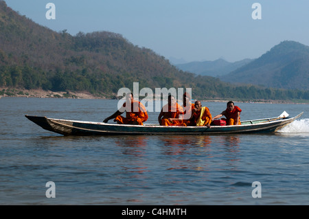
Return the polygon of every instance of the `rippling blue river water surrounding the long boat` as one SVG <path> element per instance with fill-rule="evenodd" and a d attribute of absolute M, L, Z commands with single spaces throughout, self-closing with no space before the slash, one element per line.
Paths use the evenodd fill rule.
<path fill-rule="evenodd" d="M 102 122 L 117 100 L 1 98 L 0 204 L 308 205 L 309 105 L 236 105 L 242 120 L 304 114 L 271 135 L 63 137 L 24 115 Z"/>

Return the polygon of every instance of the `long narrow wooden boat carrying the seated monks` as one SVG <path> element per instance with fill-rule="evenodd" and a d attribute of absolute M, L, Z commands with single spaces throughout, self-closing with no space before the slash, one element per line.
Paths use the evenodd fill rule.
<path fill-rule="evenodd" d="M 60 135 L 212 135 L 225 133 L 277 132 L 277 130 L 301 117 L 303 113 L 299 113 L 299 115 L 295 117 L 279 116 L 266 119 L 247 120 L 242 121 L 242 124 L 239 126 L 211 126 L 211 128 L 205 126 L 159 126 L 158 124 L 137 126 L 52 119 L 30 115 L 25 115 L 25 117 L 45 130 L 56 132 Z"/>

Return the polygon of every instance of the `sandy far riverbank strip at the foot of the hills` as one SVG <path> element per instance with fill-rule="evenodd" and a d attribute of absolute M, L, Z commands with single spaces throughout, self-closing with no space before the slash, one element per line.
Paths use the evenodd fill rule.
<path fill-rule="evenodd" d="M 120 99 L 117 95 L 104 95 L 102 93 L 90 93 L 88 91 L 45 91 L 43 89 L 15 89 L 0 87 L 0 98 L 1 97 L 34 97 L 34 98 L 67 98 L 67 99 L 106 99 L 106 100 L 117 100 Z M 139 99 L 144 99 L 141 97 Z M 209 98 L 201 100 L 203 102 L 228 102 L 224 98 Z M 309 104 L 309 100 L 237 100 L 233 99 L 234 102 L 243 103 L 256 103 L 256 104 Z"/>

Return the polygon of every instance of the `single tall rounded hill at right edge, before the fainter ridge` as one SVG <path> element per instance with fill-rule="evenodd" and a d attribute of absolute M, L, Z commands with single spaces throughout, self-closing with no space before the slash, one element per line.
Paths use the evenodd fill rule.
<path fill-rule="evenodd" d="M 263 84 L 265 87 L 309 90 L 309 47 L 283 41 L 260 58 L 222 76 L 228 82 Z"/>

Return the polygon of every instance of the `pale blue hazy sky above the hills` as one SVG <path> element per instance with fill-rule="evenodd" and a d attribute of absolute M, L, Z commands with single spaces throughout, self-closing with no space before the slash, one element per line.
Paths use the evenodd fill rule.
<path fill-rule="evenodd" d="M 165 58 L 187 62 L 258 58 L 290 40 L 309 45 L 308 0 L 5 0 L 56 32 L 109 31 Z M 47 3 L 56 19 L 47 19 Z M 260 3 L 262 19 L 253 19 Z"/>

